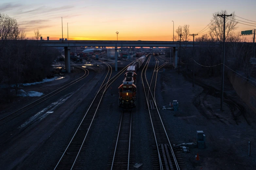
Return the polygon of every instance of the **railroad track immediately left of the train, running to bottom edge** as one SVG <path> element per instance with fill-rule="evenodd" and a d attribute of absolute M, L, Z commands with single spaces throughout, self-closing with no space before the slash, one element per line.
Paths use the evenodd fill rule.
<path fill-rule="evenodd" d="M 100 62 L 103 62 L 103 61 L 100 61 Z M 62 154 L 59 162 L 55 166 L 54 170 L 57 170 L 57 169 L 72 170 L 72 169 L 82 168 L 82 167 L 80 167 L 79 161 L 77 161 L 78 156 L 81 153 L 81 150 L 84 146 L 85 140 L 88 136 L 88 133 L 92 126 L 94 117 L 97 113 L 97 110 L 99 108 L 99 105 L 103 98 L 103 95 L 106 92 L 107 88 L 117 79 L 117 77 L 119 77 L 120 75 L 122 75 L 122 73 L 124 71 L 126 71 L 128 66 L 126 66 L 123 70 L 121 70 L 116 75 L 114 75 L 111 79 L 110 79 L 110 76 L 111 76 L 112 71 L 110 73 L 108 72 L 108 74 L 106 75 L 106 77 L 104 79 L 104 81 L 105 81 L 106 78 L 109 77 L 107 83 L 104 84 L 104 81 L 103 81 L 101 87 L 99 88 L 98 92 L 96 93 L 96 96 L 94 97 L 94 100 L 92 101 L 91 105 L 89 106 L 89 108 L 88 108 L 87 112 L 85 113 L 81 123 L 79 124 L 75 134 L 73 135 L 72 139 L 70 140 L 68 146 L 66 147 L 65 151 L 63 152 L 63 154 Z M 81 159 L 79 159 L 79 160 L 81 160 Z"/>

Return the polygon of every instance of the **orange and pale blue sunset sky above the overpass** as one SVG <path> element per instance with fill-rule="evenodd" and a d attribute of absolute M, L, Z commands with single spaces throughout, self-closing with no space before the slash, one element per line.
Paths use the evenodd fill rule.
<path fill-rule="evenodd" d="M 69 40 L 116 40 L 118 31 L 118 40 L 172 41 L 172 21 L 174 30 L 188 24 L 190 33 L 196 34 L 211 22 L 214 12 L 234 11 L 256 21 L 255 9 L 255 0 L 0 0 L 0 13 L 15 18 L 28 38 L 39 29 L 43 39 L 50 40 L 62 37 L 61 17 L 63 38 L 68 23 Z M 236 32 L 256 28 L 256 22 L 236 19 L 255 25 L 239 23 Z"/>

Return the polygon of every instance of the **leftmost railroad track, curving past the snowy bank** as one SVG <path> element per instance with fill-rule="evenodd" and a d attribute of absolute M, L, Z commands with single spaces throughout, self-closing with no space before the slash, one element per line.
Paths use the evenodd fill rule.
<path fill-rule="evenodd" d="M 73 64 L 75 64 L 75 63 L 73 63 Z M 89 75 L 89 70 L 87 70 L 87 69 L 85 69 L 85 68 L 82 68 L 82 67 L 79 67 L 79 66 L 77 66 L 77 65 L 75 65 L 75 67 L 84 70 L 84 71 L 85 71 L 84 75 L 82 75 L 81 77 L 77 78 L 76 80 L 74 80 L 74 81 L 72 81 L 72 82 L 70 82 L 70 83 L 68 83 L 68 84 L 66 84 L 66 85 L 64 85 L 64 86 L 62 86 L 62 87 L 60 87 L 60 88 L 58 88 L 57 90 L 54 90 L 53 92 L 51 92 L 51 93 L 49 93 L 49 94 L 43 96 L 42 98 L 37 99 L 37 100 L 35 100 L 35 101 L 33 101 L 33 102 L 27 104 L 26 106 L 24 106 L 24 107 L 22 107 L 22 108 L 16 110 L 15 112 L 12 112 L 12 113 L 8 114 L 7 116 L 4 116 L 4 117 L 0 118 L 0 126 L 3 125 L 3 124 L 5 124 L 5 123 L 7 123 L 7 122 L 10 121 L 10 120 L 12 120 L 13 118 L 15 118 L 15 117 L 17 117 L 17 116 L 19 116 L 19 115 L 25 113 L 26 111 L 32 109 L 32 108 L 35 107 L 36 105 L 38 105 L 38 104 L 44 102 L 45 100 L 51 98 L 52 96 L 55 96 L 56 94 L 60 93 L 60 92 L 61 92 L 62 90 L 64 90 L 64 89 L 70 87 L 71 85 L 74 85 L 74 84 L 76 84 L 77 82 L 83 80 L 84 78 L 86 78 L 86 77 Z"/>

